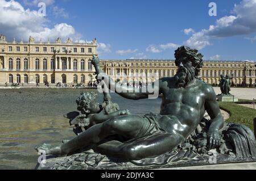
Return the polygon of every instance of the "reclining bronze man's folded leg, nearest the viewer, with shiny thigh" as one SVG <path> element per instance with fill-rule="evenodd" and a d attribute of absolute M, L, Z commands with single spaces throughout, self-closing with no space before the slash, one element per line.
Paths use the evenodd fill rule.
<path fill-rule="evenodd" d="M 128 143 L 110 141 L 97 146 L 97 151 L 112 157 L 138 160 L 172 151 L 184 141 L 179 134 L 155 134 L 145 140 Z"/>

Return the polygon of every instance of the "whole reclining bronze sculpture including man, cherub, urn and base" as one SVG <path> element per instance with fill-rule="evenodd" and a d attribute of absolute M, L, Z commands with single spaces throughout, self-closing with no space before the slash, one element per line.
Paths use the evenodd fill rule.
<path fill-rule="evenodd" d="M 253 133 L 243 125 L 224 125 L 212 86 L 198 77 L 203 67 L 203 55 L 195 49 L 182 46 L 175 51 L 175 58 L 177 74 L 174 77 L 160 78 L 153 84 L 154 90 L 163 95 L 159 114 L 133 115 L 127 110 L 101 113 L 104 106 L 93 101 L 95 95 L 84 94 L 77 100 L 78 109 L 85 113 L 79 119 L 82 117 L 84 121 L 80 123 L 75 119 L 72 124 L 82 125 L 85 131 L 80 130 L 79 136 L 62 145 L 43 145 L 36 150 L 61 156 L 81 149 L 93 149 L 96 152 L 93 154 L 96 155 L 88 156 L 86 154 L 91 153 L 86 152 L 84 157 L 79 155 L 77 158 L 86 159 L 86 163 L 90 159 L 87 165 L 89 168 L 97 167 L 106 158 L 97 156 L 98 154 L 124 159 L 139 166 L 166 165 L 178 160 L 188 163 L 189 158 L 200 155 L 201 161 L 205 163 L 204 154 L 215 148 L 219 154 L 225 154 L 227 159 L 255 158 L 256 142 Z M 92 64 L 96 69 L 97 79 L 104 81 L 105 95 L 108 95 L 106 89 L 110 87 L 116 88 L 116 94 L 134 101 L 147 99 L 154 94 L 149 91 L 149 87 L 142 91 L 115 83 L 101 72 L 100 59 L 96 56 L 93 57 Z M 123 91 L 117 91 L 118 89 Z M 204 119 L 205 111 L 210 120 Z M 243 146 L 242 143 L 239 144 L 241 140 Z M 91 159 L 94 159 L 93 163 Z M 118 162 L 113 163 L 118 165 Z"/>

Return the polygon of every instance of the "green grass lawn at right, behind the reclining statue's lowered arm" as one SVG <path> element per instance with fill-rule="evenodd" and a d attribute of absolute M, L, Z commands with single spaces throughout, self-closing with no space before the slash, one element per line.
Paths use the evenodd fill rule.
<path fill-rule="evenodd" d="M 246 100 L 240 100 L 245 103 Z M 253 102 L 250 100 L 250 102 Z M 249 100 L 247 100 L 249 103 Z M 228 123 L 244 124 L 253 130 L 253 119 L 256 117 L 256 110 L 238 105 L 237 103 L 220 102 L 220 108 L 230 114 Z"/>

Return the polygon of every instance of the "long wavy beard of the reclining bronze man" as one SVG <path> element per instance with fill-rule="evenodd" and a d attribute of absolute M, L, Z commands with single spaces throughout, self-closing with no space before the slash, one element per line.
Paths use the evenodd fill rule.
<path fill-rule="evenodd" d="M 193 66 L 183 66 L 177 70 L 177 74 L 175 75 L 177 79 L 178 87 L 185 87 L 195 78 L 195 68 Z"/>

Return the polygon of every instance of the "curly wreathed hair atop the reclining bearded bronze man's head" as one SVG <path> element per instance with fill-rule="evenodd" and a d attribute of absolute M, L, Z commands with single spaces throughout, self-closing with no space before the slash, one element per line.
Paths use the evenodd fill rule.
<path fill-rule="evenodd" d="M 181 60 L 189 60 L 196 69 L 196 75 L 199 75 L 200 69 L 203 68 L 203 54 L 198 53 L 197 49 L 191 49 L 181 46 L 175 50 L 175 65 L 179 66 Z"/>

